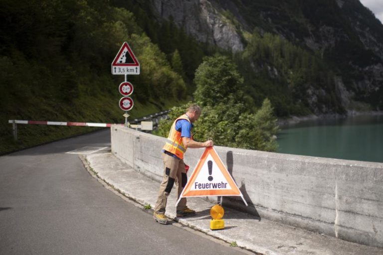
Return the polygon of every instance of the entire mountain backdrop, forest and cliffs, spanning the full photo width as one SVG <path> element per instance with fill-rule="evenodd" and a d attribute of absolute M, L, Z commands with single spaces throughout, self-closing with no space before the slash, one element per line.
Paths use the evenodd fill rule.
<path fill-rule="evenodd" d="M 141 64 L 133 118 L 192 100 L 204 56 L 229 57 L 245 109 L 279 117 L 383 108 L 383 25 L 359 0 L 1 0 L 0 153 L 89 129 L 7 120 L 122 123 L 110 64 Z"/>

